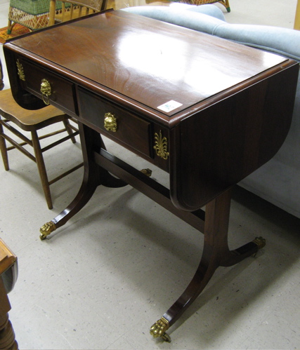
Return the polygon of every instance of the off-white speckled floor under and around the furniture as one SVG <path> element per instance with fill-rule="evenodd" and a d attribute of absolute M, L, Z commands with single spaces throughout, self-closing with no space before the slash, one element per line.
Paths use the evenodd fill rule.
<path fill-rule="evenodd" d="M 293 27 L 296 0 L 230 6 L 229 22 Z M 0 0 L 1 27 L 7 7 Z M 79 158 L 70 142 L 48 155 L 50 173 Z M 82 170 L 52 186 L 55 208 L 48 210 L 34 163 L 12 152 L 10 164 L 9 172 L 0 166 L 0 236 L 19 259 L 9 297 L 20 349 L 300 348 L 300 220 L 236 188 L 230 242 L 259 235 L 266 248 L 219 269 L 171 328 L 169 344 L 152 339 L 149 328 L 195 272 L 202 235 L 130 187 L 98 188 L 41 242 L 39 227 L 77 194 Z"/>

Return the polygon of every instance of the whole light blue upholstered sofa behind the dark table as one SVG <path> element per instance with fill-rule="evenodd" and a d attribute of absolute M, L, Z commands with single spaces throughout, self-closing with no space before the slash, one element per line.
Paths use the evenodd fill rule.
<path fill-rule="evenodd" d="M 124 11 L 180 25 L 300 62 L 300 31 L 262 25 L 228 24 L 215 5 L 138 6 Z M 240 186 L 300 218 L 300 77 L 292 126 L 280 151 Z"/>

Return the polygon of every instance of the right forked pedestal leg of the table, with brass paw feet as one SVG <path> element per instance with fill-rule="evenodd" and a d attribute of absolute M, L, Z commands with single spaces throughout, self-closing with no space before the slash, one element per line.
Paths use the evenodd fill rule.
<path fill-rule="evenodd" d="M 204 222 L 204 249 L 202 258 L 192 281 L 181 297 L 150 328 L 153 337 L 171 341 L 166 330 L 173 325 L 193 303 L 207 285 L 219 266 L 230 266 L 257 252 L 264 245 L 263 238 L 243 245 L 237 250 L 228 249 L 228 222 L 230 212 L 230 190 L 207 204 Z"/>

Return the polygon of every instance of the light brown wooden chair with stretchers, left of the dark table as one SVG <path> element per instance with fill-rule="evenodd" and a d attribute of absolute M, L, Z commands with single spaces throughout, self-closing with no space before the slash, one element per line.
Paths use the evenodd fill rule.
<path fill-rule="evenodd" d="M 3 119 L 1 119 L 1 116 Z M 51 181 L 48 180 L 43 153 L 67 140 L 71 139 L 73 143 L 76 142 L 75 136 L 78 135 L 79 131 L 77 130 L 76 126 L 73 126 L 69 122 L 69 119 L 70 116 L 67 116 L 67 114 L 64 114 L 59 109 L 51 105 L 36 111 L 23 109 L 13 99 L 11 89 L 0 91 L 0 149 L 2 159 L 4 161 L 4 168 L 5 170 L 9 170 L 8 151 L 11 149 L 18 149 L 20 152 L 22 152 L 22 154 L 25 154 L 25 156 L 32 159 L 32 161 L 35 161 L 37 163 L 41 184 L 43 186 L 49 209 L 53 208 L 50 185 L 53 184 L 53 182 L 60 180 L 62 177 L 69 175 L 83 165 L 81 162 L 79 165 L 67 170 L 65 173 L 59 175 L 55 179 Z M 56 129 L 55 131 L 47 133 L 46 135 L 42 135 L 40 137 L 38 136 L 38 130 L 58 122 L 63 122 L 63 129 Z M 15 126 L 18 126 L 18 128 L 15 128 L 15 126 L 12 124 L 15 124 Z M 9 130 L 10 133 L 4 133 L 4 130 Z M 25 133 L 22 133 L 22 131 L 25 131 Z M 30 135 L 28 132 L 31 134 L 31 137 L 27 137 Z M 59 139 L 56 137 L 51 144 L 41 148 L 39 140 L 64 132 L 67 133 L 65 137 L 60 137 Z M 12 146 L 7 147 L 6 141 L 12 144 Z M 24 147 L 25 145 L 30 145 L 33 147 L 33 154 Z"/>

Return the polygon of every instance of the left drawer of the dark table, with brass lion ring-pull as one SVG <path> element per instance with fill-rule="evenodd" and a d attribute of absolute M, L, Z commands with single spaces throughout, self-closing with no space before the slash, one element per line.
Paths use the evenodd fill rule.
<path fill-rule="evenodd" d="M 22 80 L 27 91 L 43 98 L 46 104 L 51 103 L 51 105 L 66 112 L 78 114 L 75 88 L 71 81 L 48 72 L 43 67 L 27 62 L 27 60 L 20 60 L 20 64 L 24 74 Z M 48 93 L 41 93 L 42 84 L 46 88 L 48 87 Z"/>

